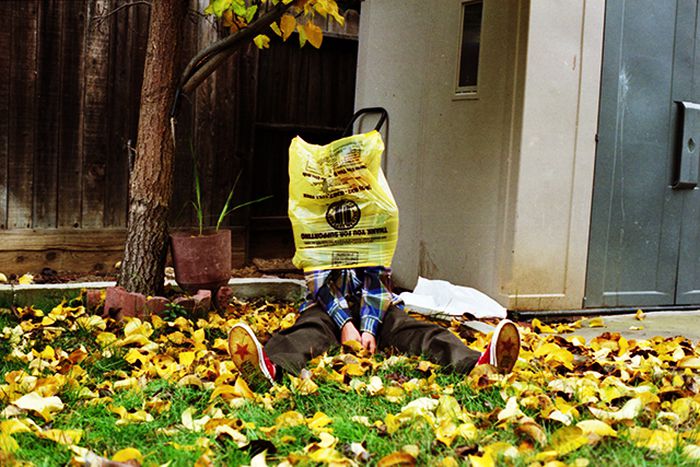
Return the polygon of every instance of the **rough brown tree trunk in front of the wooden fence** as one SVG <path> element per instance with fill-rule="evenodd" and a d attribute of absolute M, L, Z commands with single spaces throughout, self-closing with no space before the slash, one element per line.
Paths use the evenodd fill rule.
<path fill-rule="evenodd" d="M 175 153 L 169 116 L 186 14 L 187 0 L 151 2 L 126 247 L 119 277 L 119 285 L 147 295 L 155 295 L 163 287 Z"/>

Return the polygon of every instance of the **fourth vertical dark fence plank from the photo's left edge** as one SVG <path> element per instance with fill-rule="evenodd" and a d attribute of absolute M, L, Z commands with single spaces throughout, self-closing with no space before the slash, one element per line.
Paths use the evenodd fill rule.
<path fill-rule="evenodd" d="M 58 227 L 80 227 L 82 151 L 80 140 L 83 39 L 86 5 L 63 2 L 61 129 L 58 153 Z"/>

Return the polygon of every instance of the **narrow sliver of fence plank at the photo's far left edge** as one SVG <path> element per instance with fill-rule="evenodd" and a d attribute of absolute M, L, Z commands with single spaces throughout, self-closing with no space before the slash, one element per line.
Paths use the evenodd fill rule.
<path fill-rule="evenodd" d="M 10 140 L 10 77 L 12 76 L 12 7 L 0 3 L 0 229 L 7 229 L 7 162 Z"/>

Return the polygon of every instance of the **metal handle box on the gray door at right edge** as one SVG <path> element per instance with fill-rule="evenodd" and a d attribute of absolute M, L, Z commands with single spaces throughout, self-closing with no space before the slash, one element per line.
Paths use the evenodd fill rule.
<path fill-rule="evenodd" d="M 678 102 L 683 118 L 683 131 L 678 147 L 676 190 L 693 189 L 698 185 L 698 162 L 700 162 L 700 104 Z"/>

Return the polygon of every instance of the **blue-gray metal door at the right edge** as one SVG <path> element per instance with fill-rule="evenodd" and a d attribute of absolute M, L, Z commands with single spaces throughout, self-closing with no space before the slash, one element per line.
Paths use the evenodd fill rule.
<path fill-rule="evenodd" d="M 586 307 L 700 304 L 697 20 L 607 1 Z"/>

